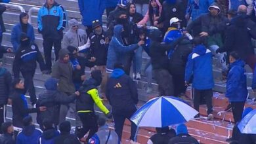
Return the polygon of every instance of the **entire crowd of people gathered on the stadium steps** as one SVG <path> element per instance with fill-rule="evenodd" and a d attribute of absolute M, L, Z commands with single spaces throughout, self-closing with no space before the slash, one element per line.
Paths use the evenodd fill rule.
<path fill-rule="evenodd" d="M 0 47 L 1 57 L 5 52 L 15 54 L 12 72 L 2 62 L 0 66 L 0 143 L 79 143 L 87 132 L 87 143 L 120 143 L 125 119 L 137 111 L 138 91 L 133 80 L 140 80 L 143 70 L 148 94 L 153 77 L 160 96 L 182 96 L 192 84 L 194 108 L 199 111 L 200 105 L 206 104 L 207 119 L 213 120 L 213 57 L 226 80 L 225 95 L 236 123 L 228 141 L 256 141 L 255 135 L 242 135 L 237 128 L 247 113 L 245 64 L 254 72 L 251 87 L 256 90 L 253 1 L 78 0 L 78 6 L 86 30 L 77 20 L 68 20 L 65 8 L 56 1 L 47 0 L 41 7 L 37 28 L 43 37 L 43 55 L 25 12 L 12 28 L 12 49 Z M 103 29 L 105 9 L 107 28 Z M 5 10 L 0 5 L 0 14 Z M 64 29 L 68 29 L 66 33 Z M 0 40 L 3 32 L 0 16 Z M 145 69 L 143 51 L 150 57 Z M 43 74 L 51 75 L 38 96 L 33 84 L 37 62 Z M 90 77 L 85 75 L 86 67 L 91 69 Z M 108 100 L 111 108 L 102 99 Z M 12 122 L 5 122 L 7 103 L 12 105 Z M 114 118 L 114 131 L 105 118 L 95 114 L 94 105 L 106 118 Z M 70 134 L 71 124 L 66 121 L 68 111 L 75 117 L 75 134 Z M 37 113 L 40 129 L 33 125 L 30 113 Z M 14 127 L 20 132 L 14 132 Z M 176 132 L 169 127 L 156 128 L 156 132 L 148 144 L 198 143 L 184 124 L 179 124 Z M 137 126 L 132 121 L 130 140 L 137 141 Z"/>

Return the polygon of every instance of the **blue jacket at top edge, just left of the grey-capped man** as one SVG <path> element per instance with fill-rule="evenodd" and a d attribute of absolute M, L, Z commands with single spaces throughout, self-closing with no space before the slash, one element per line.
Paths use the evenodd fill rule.
<path fill-rule="evenodd" d="M 198 5 L 196 2 L 198 1 Z M 214 2 L 214 0 L 188 0 L 188 7 L 186 9 L 186 14 L 190 14 L 192 20 L 195 20 L 202 14 L 207 14 L 209 12 L 208 7 Z"/>

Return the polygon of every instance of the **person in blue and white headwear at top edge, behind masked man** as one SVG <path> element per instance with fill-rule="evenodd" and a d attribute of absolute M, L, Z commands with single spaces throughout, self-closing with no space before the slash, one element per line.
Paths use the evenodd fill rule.
<path fill-rule="evenodd" d="M 110 12 L 109 16 L 108 16 L 108 23 L 107 23 L 107 27 L 110 27 L 110 24 L 117 19 L 118 15 L 120 12 L 124 12 L 125 14 L 127 14 L 127 0 L 119 0 L 117 3 L 117 7 L 115 10 L 113 10 L 112 12 Z"/>

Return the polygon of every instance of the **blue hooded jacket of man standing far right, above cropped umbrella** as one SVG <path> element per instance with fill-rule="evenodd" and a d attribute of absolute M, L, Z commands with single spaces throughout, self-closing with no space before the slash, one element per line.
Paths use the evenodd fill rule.
<path fill-rule="evenodd" d="M 246 101 L 248 91 L 244 65 L 242 60 L 236 60 L 230 64 L 231 68 L 226 81 L 226 98 L 230 102 Z"/>

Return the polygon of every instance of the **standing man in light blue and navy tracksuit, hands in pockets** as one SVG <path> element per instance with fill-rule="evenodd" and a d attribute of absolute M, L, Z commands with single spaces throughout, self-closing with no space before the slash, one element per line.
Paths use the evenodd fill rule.
<path fill-rule="evenodd" d="M 38 32 L 43 36 L 43 53 L 48 73 L 51 73 L 53 46 L 55 60 L 58 60 L 58 52 L 61 49 L 63 30 L 67 25 L 67 20 L 66 10 L 55 0 L 46 0 L 45 5 L 39 9 Z"/>

